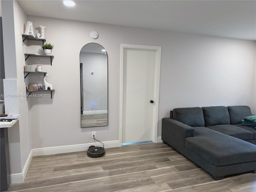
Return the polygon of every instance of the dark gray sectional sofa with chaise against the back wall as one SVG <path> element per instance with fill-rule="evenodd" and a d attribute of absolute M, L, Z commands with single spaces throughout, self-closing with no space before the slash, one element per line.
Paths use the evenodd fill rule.
<path fill-rule="evenodd" d="M 176 108 L 162 119 L 162 140 L 214 180 L 256 172 L 256 128 L 242 126 L 248 106 Z"/>

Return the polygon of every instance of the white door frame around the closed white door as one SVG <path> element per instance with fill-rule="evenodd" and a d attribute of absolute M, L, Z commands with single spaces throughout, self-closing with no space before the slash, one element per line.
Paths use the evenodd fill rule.
<path fill-rule="evenodd" d="M 154 81 L 154 108 L 152 118 L 152 136 L 153 142 L 157 142 L 157 131 L 158 131 L 158 103 L 159 103 L 159 85 L 160 85 L 160 64 L 161 64 L 161 47 L 160 46 L 145 46 L 145 45 L 133 45 L 133 44 L 121 44 L 120 53 L 120 111 L 119 111 L 119 142 L 122 146 L 122 124 L 123 124 L 123 74 L 124 74 L 124 49 L 140 49 L 140 50 L 154 50 L 156 51 L 155 60 L 155 81 Z"/>

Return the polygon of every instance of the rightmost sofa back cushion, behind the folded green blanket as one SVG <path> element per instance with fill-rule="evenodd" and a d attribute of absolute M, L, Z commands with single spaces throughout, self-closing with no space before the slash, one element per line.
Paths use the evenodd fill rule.
<path fill-rule="evenodd" d="M 228 106 L 228 112 L 230 116 L 230 124 L 240 124 L 242 119 L 251 116 L 252 112 L 248 106 Z"/>

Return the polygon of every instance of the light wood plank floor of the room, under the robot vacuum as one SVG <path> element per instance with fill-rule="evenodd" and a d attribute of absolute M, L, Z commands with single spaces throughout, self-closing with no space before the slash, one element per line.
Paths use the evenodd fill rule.
<path fill-rule="evenodd" d="M 32 158 L 25 182 L 7 192 L 256 192 L 256 174 L 215 181 L 163 143 Z"/>

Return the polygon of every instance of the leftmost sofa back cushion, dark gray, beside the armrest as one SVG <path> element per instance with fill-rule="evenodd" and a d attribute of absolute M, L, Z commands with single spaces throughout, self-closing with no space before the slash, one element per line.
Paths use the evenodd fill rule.
<path fill-rule="evenodd" d="M 200 107 L 175 108 L 172 118 L 192 127 L 204 126 L 204 115 Z"/>

